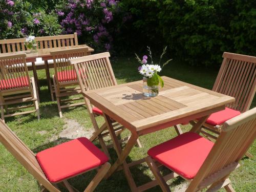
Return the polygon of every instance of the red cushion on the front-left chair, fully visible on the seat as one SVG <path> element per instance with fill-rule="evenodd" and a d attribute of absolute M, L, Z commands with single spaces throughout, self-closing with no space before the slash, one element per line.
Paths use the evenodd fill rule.
<path fill-rule="evenodd" d="M 49 181 L 67 179 L 108 161 L 89 139 L 78 138 L 36 154 L 36 159 Z"/>

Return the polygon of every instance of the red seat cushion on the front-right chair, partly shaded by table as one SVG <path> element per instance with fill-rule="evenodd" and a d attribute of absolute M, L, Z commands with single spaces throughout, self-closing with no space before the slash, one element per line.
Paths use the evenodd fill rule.
<path fill-rule="evenodd" d="M 186 179 L 193 179 L 214 143 L 187 132 L 159 144 L 147 154 Z"/>

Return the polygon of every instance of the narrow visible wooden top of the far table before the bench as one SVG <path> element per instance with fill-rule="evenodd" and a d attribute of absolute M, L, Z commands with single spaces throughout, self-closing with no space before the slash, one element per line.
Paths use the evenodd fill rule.
<path fill-rule="evenodd" d="M 37 57 L 49 57 L 51 51 L 58 51 L 58 50 L 67 50 L 67 49 L 74 49 L 74 48 L 82 48 L 88 47 L 89 52 L 93 52 L 94 49 L 87 46 L 87 45 L 78 45 L 78 46 L 66 46 L 66 47 L 55 47 L 55 48 L 47 48 L 47 49 L 37 49 L 36 53 L 30 53 L 29 51 L 17 51 L 17 52 L 9 52 L 9 53 L 1 53 L 1 55 L 10 55 L 10 54 L 20 54 L 26 53 L 26 59 L 32 59 Z"/>

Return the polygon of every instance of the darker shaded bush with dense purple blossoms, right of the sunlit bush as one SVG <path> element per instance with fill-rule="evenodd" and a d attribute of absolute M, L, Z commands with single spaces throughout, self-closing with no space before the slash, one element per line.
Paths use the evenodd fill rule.
<path fill-rule="evenodd" d="M 110 50 L 113 38 L 108 30 L 118 8 L 115 0 L 68 0 L 56 6 L 64 34 L 76 32 L 79 40 L 94 48 Z"/>

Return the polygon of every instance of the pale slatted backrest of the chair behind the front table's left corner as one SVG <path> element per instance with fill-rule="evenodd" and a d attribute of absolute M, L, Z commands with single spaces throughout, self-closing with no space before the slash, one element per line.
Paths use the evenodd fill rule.
<path fill-rule="evenodd" d="M 111 63 L 110 53 L 99 53 L 71 59 L 75 66 L 81 91 L 95 90 L 117 84 Z"/>

